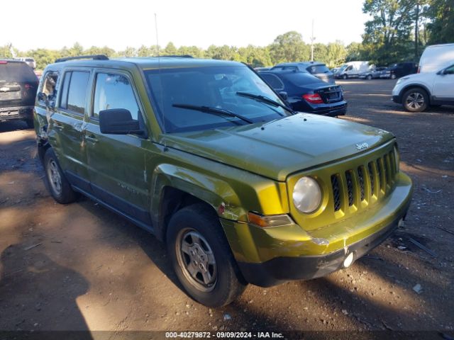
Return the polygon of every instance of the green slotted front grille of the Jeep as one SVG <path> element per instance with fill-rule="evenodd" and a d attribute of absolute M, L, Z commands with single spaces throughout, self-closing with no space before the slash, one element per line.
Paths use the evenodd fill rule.
<path fill-rule="evenodd" d="M 392 188 L 396 173 L 394 152 L 391 151 L 356 169 L 331 175 L 334 211 L 351 207 L 358 201 L 370 202 L 372 196 L 375 200 L 381 199 Z"/>

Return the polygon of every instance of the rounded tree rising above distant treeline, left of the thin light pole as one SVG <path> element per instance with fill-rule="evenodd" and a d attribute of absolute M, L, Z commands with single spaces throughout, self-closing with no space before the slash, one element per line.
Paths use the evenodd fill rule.
<path fill-rule="evenodd" d="M 299 62 L 309 60 L 310 49 L 301 37 L 301 34 L 292 30 L 278 35 L 269 46 L 273 64 L 279 62 Z"/>

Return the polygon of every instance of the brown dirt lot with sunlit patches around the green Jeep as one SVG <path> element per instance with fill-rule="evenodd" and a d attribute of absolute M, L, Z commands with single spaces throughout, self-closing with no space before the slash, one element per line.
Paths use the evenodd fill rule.
<path fill-rule="evenodd" d="M 394 81 L 339 83 L 349 102 L 345 119 L 397 136 L 401 169 L 415 184 L 404 227 L 351 268 L 273 288 L 250 285 L 218 310 L 182 293 L 164 246 L 150 234 L 88 199 L 55 203 L 33 130 L 0 123 L 0 330 L 452 334 L 454 108 L 406 113 L 389 100 Z"/>

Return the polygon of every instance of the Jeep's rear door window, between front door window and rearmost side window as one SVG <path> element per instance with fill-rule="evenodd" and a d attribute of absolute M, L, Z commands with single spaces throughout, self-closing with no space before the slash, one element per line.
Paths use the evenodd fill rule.
<path fill-rule="evenodd" d="M 62 103 L 60 107 L 66 108 L 74 113 L 83 115 L 85 113 L 85 101 L 87 99 L 87 86 L 90 77 L 90 72 L 85 71 L 72 71 L 65 74 L 65 84 L 67 85 L 67 77 L 69 80 L 69 89 L 67 90 L 67 98 L 65 91 L 62 91 Z M 65 106 L 63 105 L 65 104 Z"/>

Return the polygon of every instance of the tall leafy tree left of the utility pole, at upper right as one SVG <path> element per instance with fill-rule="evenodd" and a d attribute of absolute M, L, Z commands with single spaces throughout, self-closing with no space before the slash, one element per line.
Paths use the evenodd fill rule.
<path fill-rule="evenodd" d="M 418 0 L 365 0 L 362 11 L 372 20 L 365 23 L 362 44 L 377 64 L 389 64 L 411 55 L 411 30 Z"/>

